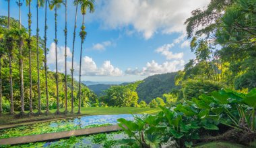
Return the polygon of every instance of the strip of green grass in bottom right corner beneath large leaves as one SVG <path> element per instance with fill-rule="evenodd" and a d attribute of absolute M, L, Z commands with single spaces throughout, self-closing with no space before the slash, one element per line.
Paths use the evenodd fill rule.
<path fill-rule="evenodd" d="M 253 148 L 256 147 L 256 142 L 251 143 L 251 146 L 238 145 L 236 143 L 229 142 L 212 142 L 202 143 L 195 148 Z"/>

